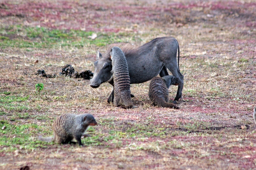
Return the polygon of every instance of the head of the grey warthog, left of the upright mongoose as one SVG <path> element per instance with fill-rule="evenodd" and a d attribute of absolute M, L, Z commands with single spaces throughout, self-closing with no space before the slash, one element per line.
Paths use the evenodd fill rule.
<path fill-rule="evenodd" d="M 94 74 L 90 80 L 92 88 L 97 88 L 101 83 L 108 82 L 113 78 L 111 59 L 109 57 L 102 57 L 101 53 L 97 51 L 96 60 L 94 63 Z"/>

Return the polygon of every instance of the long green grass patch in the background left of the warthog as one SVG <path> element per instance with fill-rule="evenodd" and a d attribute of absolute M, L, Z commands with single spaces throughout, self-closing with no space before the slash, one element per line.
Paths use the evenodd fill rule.
<path fill-rule="evenodd" d="M 105 46 L 114 42 L 122 42 L 122 35 L 115 33 L 97 33 L 97 38 L 92 40 L 88 36 L 93 32 L 84 32 L 81 30 L 59 30 L 47 29 L 44 27 L 25 27 L 11 26 L 0 28 L 0 33 L 22 34 L 25 36 L 14 36 L 16 38 L 0 37 L 0 47 L 17 47 L 17 48 L 83 48 L 85 46 L 96 45 Z"/>

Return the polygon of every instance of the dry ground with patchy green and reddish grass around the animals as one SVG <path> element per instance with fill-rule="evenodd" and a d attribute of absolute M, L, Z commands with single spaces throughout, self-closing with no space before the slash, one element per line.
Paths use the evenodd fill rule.
<path fill-rule="evenodd" d="M 255 0 L 1 1 L 0 28 L 0 169 L 256 169 Z M 131 85 L 125 110 L 107 103 L 108 83 L 58 76 L 94 71 L 107 44 L 162 36 L 180 45 L 179 110 L 152 106 L 149 82 Z M 85 147 L 37 140 L 63 113 L 94 115 Z"/>

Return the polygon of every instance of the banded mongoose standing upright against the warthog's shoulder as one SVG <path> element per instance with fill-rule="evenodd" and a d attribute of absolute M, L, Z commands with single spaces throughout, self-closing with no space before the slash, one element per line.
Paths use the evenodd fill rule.
<path fill-rule="evenodd" d="M 119 47 L 113 47 L 110 52 L 114 79 L 114 106 L 124 105 L 132 108 L 130 77 L 126 58 Z"/>

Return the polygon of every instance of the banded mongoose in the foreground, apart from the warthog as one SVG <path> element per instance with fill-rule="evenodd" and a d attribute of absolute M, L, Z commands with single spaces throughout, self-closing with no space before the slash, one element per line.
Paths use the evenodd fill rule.
<path fill-rule="evenodd" d="M 79 145 L 83 146 L 81 137 L 85 134 L 89 126 L 95 126 L 97 122 L 90 114 L 63 114 L 54 121 L 52 125 L 53 137 L 41 137 L 40 141 L 55 141 L 58 144 L 74 143 L 71 142 L 75 138 Z"/>

